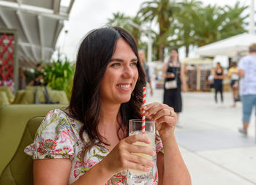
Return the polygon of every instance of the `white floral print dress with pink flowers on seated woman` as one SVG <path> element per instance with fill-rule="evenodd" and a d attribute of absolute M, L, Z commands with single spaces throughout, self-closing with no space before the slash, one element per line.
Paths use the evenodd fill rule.
<path fill-rule="evenodd" d="M 80 121 L 70 118 L 64 111 L 51 110 L 37 129 L 34 143 L 25 148 L 25 153 L 32 156 L 33 159 L 69 158 L 72 167 L 68 184 L 72 184 L 109 153 L 108 149 L 103 146 L 94 146 L 82 160 L 81 154 L 84 144 L 79 136 L 79 130 L 82 126 Z M 83 133 L 83 138 L 89 140 L 86 132 Z M 161 140 L 156 140 L 156 151 L 163 152 Z M 154 174 L 153 184 L 157 185 L 157 164 L 154 165 Z M 105 185 L 123 185 L 126 175 L 126 171 L 113 175 Z"/>

